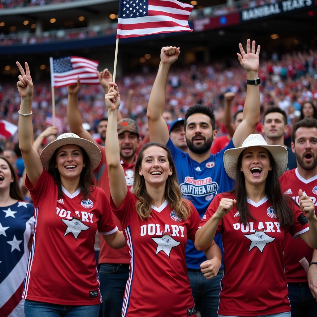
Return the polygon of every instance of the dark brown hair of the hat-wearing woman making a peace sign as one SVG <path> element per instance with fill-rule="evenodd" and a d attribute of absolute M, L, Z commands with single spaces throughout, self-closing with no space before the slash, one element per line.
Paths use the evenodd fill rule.
<path fill-rule="evenodd" d="M 93 198 L 91 196 L 91 191 L 94 191 L 95 186 L 94 186 L 93 177 L 92 177 L 93 170 L 92 170 L 91 162 L 86 151 L 81 146 L 79 147 L 81 148 L 81 152 L 82 152 L 84 163 L 85 163 L 85 166 L 83 166 L 81 174 L 80 174 L 79 188 L 80 188 L 83 199 L 88 198 L 88 196 Z M 49 172 L 49 174 L 53 176 L 55 184 L 57 184 L 58 197 L 64 197 L 63 191 L 61 189 L 61 186 L 62 186 L 61 175 L 58 169 L 55 168 L 57 151 L 58 149 L 52 155 L 49 161 L 49 168 L 47 171 Z"/>

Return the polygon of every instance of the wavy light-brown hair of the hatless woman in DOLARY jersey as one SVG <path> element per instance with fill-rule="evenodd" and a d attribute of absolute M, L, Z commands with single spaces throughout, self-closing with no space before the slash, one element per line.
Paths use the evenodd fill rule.
<path fill-rule="evenodd" d="M 140 176 L 139 174 L 139 168 L 141 167 L 143 160 L 143 153 L 151 146 L 161 147 L 167 153 L 167 160 L 170 164 L 170 167 L 172 168 L 173 173 L 166 179 L 165 197 L 171 207 L 171 210 L 175 210 L 175 213 L 178 217 L 186 220 L 190 216 L 191 207 L 189 202 L 182 198 L 171 152 L 166 146 L 157 142 L 150 142 L 143 146 L 134 165 L 133 193 L 138 198 L 136 204 L 137 214 L 142 220 L 145 220 L 150 216 L 151 205 L 154 203 L 152 197 L 146 191 L 144 177 Z"/>

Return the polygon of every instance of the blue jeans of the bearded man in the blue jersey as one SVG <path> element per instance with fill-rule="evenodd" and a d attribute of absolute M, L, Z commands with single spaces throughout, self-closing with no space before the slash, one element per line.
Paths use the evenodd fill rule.
<path fill-rule="evenodd" d="M 200 312 L 201 317 L 217 317 L 223 269 L 219 270 L 218 275 L 211 280 L 207 280 L 200 270 L 188 268 L 187 271 L 196 311 Z"/>

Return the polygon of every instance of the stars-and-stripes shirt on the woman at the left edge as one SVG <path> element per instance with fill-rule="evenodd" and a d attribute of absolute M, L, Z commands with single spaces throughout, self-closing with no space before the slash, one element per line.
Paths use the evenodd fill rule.
<path fill-rule="evenodd" d="M 0 316 L 24 315 L 23 283 L 34 233 L 34 207 L 24 201 L 0 207 Z"/>

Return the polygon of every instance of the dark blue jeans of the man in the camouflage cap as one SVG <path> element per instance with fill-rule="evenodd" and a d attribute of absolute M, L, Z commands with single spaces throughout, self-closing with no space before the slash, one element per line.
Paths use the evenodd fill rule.
<path fill-rule="evenodd" d="M 102 316 L 120 317 L 129 264 L 102 263 L 99 268 Z"/>

